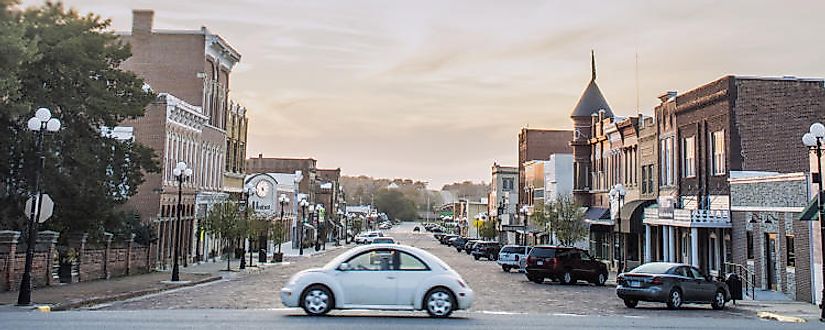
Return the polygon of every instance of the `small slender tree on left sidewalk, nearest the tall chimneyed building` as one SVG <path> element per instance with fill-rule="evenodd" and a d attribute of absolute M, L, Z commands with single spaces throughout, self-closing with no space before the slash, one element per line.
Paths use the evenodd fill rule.
<path fill-rule="evenodd" d="M 231 270 L 229 260 L 236 248 L 235 243 L 249 235 L 249 226 L 245 217 L 238 211 L 238 203 L 226 201 L 213 205 L 203 220 L 203 229 L 212 237 L 223 241 L 226 270 Z"/>

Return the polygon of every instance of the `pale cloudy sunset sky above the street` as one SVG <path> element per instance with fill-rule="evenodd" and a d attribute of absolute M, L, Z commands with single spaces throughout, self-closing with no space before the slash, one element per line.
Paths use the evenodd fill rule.
<path fill-rule="evenodd" d="M 24 5 L 41 1 L 23 1 Z M 516 165 L 521 127 L 571 128 L 590 79 L 617 115 L 727 74 L 825 76 L 825 1 L 66 0 L 131 29 L 220 34 L 247 155 L 438 189 Z"/>

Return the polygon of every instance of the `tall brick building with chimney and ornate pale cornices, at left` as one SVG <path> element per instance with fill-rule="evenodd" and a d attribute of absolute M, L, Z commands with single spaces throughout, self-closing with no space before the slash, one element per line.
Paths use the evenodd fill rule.
<path fill-rule="evenodd" d="M 229 97 L 230 74 L 240 54 L 205 27 L 156 30 L 153 18 L 151 10 L 133 11 L 132 30 L 120 33 L 132 49 L 132 57 L 122 67 L 142 77 L 159 98 L 149 106 L 145 117 L 121 125 L 133 127 L 135 139 L 152 147 L 161 158 L 161 173 L 148 175 L 127 207 L 136 209 L 143 221 L 156 224 L 157 258 L 164 266 L 170 262 L 177 242 L 172 237 L 178 225 L 177 185 L 172 169 L 183 161 L 193 170 L 184 183 L 181 208 L 181 252 L 186 264 L 202 259 L 203 251 L 216 250 L 215 246 L 207 246 L 211 243 L 209 237 L 201 240 L 195 228 L 211 205 L 241 191 L 239 182 L 226 182 L 224 178 L 242 177 L 243 168 L 227 164 L 227 159 L 243 159 L 247 123 L 246 109 L 233 104 Z"/>

